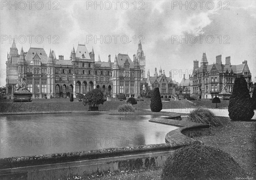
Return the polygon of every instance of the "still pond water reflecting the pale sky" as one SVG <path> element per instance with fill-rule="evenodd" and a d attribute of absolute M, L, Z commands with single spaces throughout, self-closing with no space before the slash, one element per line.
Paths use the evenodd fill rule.
<path fill-rule="evenodd" d="M 177 127 L 153 115 L 38 114 L 0 116 L 0 158 L 165 143 Z"/>

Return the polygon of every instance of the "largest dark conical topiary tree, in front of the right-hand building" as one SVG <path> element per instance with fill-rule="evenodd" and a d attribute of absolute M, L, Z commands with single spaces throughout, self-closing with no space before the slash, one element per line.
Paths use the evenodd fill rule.
<path fill-rule="evenodd" d="M 238 77 L 235 80 L 228 112 L 230 119 L 233 121 L 250 120 L 254 115 L 252 99 L 244 77 Z"/>

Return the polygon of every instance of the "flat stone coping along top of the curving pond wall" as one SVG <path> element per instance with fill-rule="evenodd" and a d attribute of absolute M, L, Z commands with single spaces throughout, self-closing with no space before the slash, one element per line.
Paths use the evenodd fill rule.
<path fill-rule="evenodd" d="M 117 113 L 109 112 L 109 114 L 148 114 L 149 112 L 131 112 L 131 113 Z M 152 112 L 151 112 L 152 113 Z M 152 113 L 154 115 L 166 116 L 167 112 Z M 173 114 L 173 113 L 172 113 Z M 169 113 L 170 116 L 170 113 Z M 177 114 L 176 114 L 177 116 Z M 180 117 L 180 116 L 179 116 Z M 199 141 L 185 136 L 183 132 L 187 130 L 199 130 L 201 128 L 209 128 L 209 125 L 199 124 L 194 122 L 185 122 L 166 118 L 153 118 L 149 122 L 162 123 L 166 125 L 182 126 L 182 128 L 175 129 L 166 134 L 166 142 L 164 144 L 154 145 L 138 145 L 133 147 L 122 148 L 106 148 L 92 151 L 80 151 L 80 152 L 68 152 L 68 153 L 56 153 L 46 155 L 35 155 L 26 157 L 8 157 L 0 158 L 0 169 L 18 168 L 26 166 L 49 165 L 56 163 L 68 163 L 82 160 L 96 160 L 100 158 L 109 158 L 116 156 L 154 153 L 161 151 L 175 151 L 185 145 L 191 145 L 194 143 L 200 143 Z"/>

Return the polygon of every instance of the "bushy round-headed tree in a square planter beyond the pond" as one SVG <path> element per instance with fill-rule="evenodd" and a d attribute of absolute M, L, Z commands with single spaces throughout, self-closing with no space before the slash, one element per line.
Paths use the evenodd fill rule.
<path fill-rule="evenodd" d="M 104 102 L 104 95 L 99 89 L 90 91 L 89 93 L 85 94 L 83 98 L 83 105 L 89 105 L 89 111 L 99 110 L 98 105 L 103 105 Z"/>

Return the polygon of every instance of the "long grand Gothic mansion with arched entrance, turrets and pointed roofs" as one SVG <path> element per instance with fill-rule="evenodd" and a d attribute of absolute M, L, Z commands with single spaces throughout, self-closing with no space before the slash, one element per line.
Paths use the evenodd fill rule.
<path fill-rule="evenodd" d="M 17 79 L 25 77 L 32 98 L 58 97 L 67 92 L 87 93 L 99 88 L 104 96 L 116 97 L 119 93 L 127 97 L 138 97 L 141 91 L 145 92 L 145 85 L 140 81 L 145 78 L 145 55 L 139 42 L 137 55 L 133 59 L 127 54 L 118 54 L 111 62 L 95 60 L 92 48 L 88 52 L 84 44 L 73 47 L 70 58 L 64 59 L 63 55 L 56 58 L 53 50 L 47 56 L 43 48 L 30 47 L 28 52 L 23 48 L 18 53 L 13 41 L 6 61 L 6 90 L 7 96 L 13 97 Z"/>

